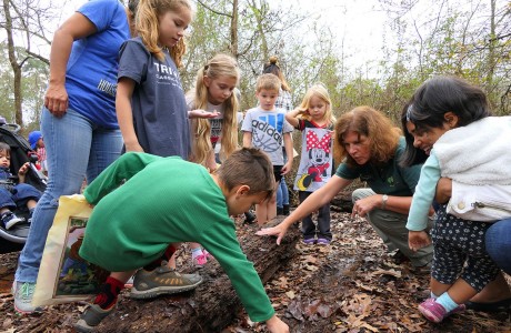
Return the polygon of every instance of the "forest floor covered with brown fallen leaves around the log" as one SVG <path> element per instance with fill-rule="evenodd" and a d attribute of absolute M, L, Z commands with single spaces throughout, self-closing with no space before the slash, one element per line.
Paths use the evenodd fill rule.
<path fill-rule="evenodd" d="M 332 212 L 332 231 L 330 246 L 299 244 L 299 254 L 265 285 L 291 332 L 511 332 L 510 313 L 467 311 L 441 324 L 429 323 L 417 310 L 429 294 L 428 273 L 413 272 L 407 262 L 397 264 L 361 219 Z M 10 286 L 18 255 L 0 255 L 0 332 L 73 332 L 83 304 L 54 305 L 38 315 L 13 312 Z M 189 258 L 181 263 L 187 265 Z M 137 302 L 123 294 L 109 320 L 128 321 Z M 157 321 L 146 327 L 138 332 L 181 332 Z M 268 331 L 240 312 L 222 331 L 230 332 Z"/>

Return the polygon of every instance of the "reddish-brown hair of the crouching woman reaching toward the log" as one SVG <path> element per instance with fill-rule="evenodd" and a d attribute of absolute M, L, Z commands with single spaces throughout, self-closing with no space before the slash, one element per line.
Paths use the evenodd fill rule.
<path fill-rule="evenodd" d="M 334 130 L 333 158 L 335 161 L 345 159 L 349 167 L 358 164 L 344 148 L 344 137 L 348 132 L 355 132 L 359 138 L 368 138 L 370 161 L 375 164 L 385 163 L 394 157 L 401 137 L 401 130 L 393 125 L 387 115 L 371 107 L 357 107 L 342 114 Z"/>

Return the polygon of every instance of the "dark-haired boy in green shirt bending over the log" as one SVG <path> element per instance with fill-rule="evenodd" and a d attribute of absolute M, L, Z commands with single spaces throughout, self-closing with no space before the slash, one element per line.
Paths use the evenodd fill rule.
<path fill-rule="evenodd" d="M 80 255 L 112 273 L 76 329 L 92 331 L 113 311 L 129 278 L 162 256 L 170 258 L 173 243 L 198 242 L 227 272 L 252 321 L 265 321 L 270 332 L 289 332 L 241 251 L 229 218 L 271 198 L 275 188 L 272 174 L 270 160 L 258 149 L 233 152 L 213 174 L 177 157 L 123 154 L 83 193 L 96 208 Z M 179 274 L 166 265 L 142 269 L 136 273 L 131 295 L 142 299 L 176 293 L 200 282 L 196 274 Z"/>

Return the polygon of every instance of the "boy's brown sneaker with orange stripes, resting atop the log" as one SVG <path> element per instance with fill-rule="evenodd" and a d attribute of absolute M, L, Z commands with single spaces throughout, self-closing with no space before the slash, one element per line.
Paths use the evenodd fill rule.
<path fill-rule="evenodd" d="M 132 299 L 152 299 L 162 294 L 176 294 L 196 289 L 202 282 L 199 274 L 180 274 L 162 262 L 161 266 L 148 272 L 140 270 L 134 274 Z"/>

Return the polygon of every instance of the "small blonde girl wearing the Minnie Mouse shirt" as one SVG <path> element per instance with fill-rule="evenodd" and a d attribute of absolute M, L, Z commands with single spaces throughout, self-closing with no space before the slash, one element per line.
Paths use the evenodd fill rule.
<path fill-rule="evenodd" d="M 294 180 L 300 202 L 323 186 L 332 175 L 332 115 L 330 95 L 323 84 L 314 84 L 307 91 L 297 109 L 285 114 L 285 120 L 302 131 L 300 165 Z M 318 231 L 312 214 L 302 220 L 304 244 L 328 245 L 330 232 L 330 204 L 319 209 Z"/>

